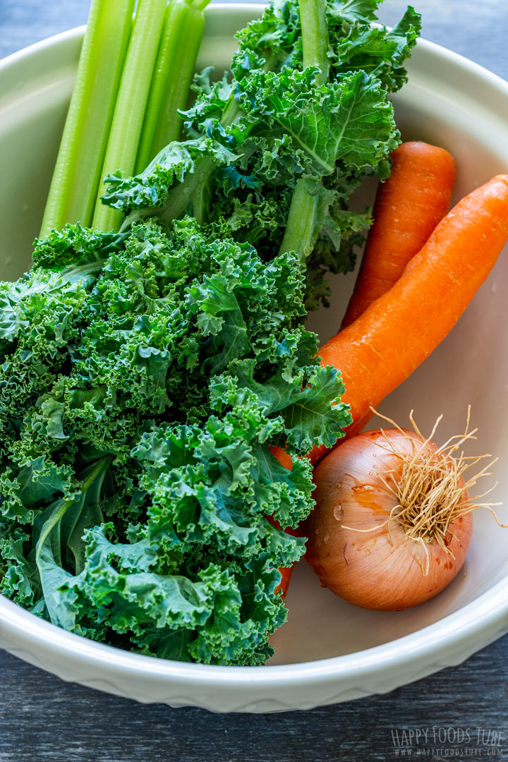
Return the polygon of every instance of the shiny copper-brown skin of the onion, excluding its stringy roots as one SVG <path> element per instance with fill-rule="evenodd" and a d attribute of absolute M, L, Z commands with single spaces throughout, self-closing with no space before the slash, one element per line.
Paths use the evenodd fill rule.
<path fill-rule="evenodd" d="M 315 468 L 316 507 L 301 533 L 308 537 L 305 559 L 324 587 L 356 606 L 391 611 L 416 606 L 446 588 L 468 552 L 473 520 L 468 513 L 450 523 L 446 543 L 453 555 L 436 541 L 423 548 L 422 543 L 407 539 L 396 520 L 386 524 L 396 499 L 382 477 L 387 479 L 386 471 L 401 461 L 382 450 L 385 437 L 399 452 L 408 454 L 413 445 L 407 437 L 417 446 L 422 441 L 412 431 L 401 434 L 385 429 L 366 431 L 341 443 Z M 436 449 L 432 443 L 429 447 Z M 465 491 L 462 501 L 467 500 Z M 423 575 L 425 549 L 429 552 L 427 575 Z"/>

